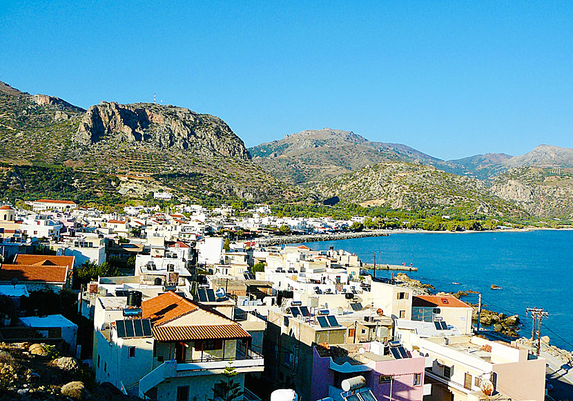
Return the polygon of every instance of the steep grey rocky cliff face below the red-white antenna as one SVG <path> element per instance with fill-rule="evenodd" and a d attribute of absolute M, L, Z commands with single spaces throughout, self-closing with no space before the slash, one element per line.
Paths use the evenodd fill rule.
<path fill-rule="evenodd" d="M 101 102 L 91 106 L 73 140 L 81 145 L 145 142 L 159 149 L 250 158 L 243 141 L 220 118 L 153 103 Z"/>

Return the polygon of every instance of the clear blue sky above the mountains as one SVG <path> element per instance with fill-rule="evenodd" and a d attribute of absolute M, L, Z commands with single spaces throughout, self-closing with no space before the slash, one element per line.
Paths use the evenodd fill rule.
<path fill-rule="evenodd" d="M 157 101 L 247 146 L 354 131 L 438 158 L 573 147 L 573 3 L 0 0 L 0 80 Z"/>

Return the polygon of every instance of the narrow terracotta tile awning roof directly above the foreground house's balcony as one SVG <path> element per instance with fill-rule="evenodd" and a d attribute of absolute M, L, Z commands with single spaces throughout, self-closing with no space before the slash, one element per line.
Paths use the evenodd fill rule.
<path fill-rule="evenodd" d="M 194 339 L 237 339 L 250 338 L 240 324 L 219 324 L 217 326 L 155 326 L 153 336 L 157 341 L 188 341 Z"/>

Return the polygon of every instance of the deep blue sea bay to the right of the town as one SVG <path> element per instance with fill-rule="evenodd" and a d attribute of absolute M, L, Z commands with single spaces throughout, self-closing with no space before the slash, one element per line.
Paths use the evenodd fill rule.
<path fill-rule="evenodd" d="M 477 291 L 489 310 L 519 315 L 519 334 L 531 337 L 532 318 L 527 307 L 547 311 L 541 335 L 551 344 L 573 351 L 573 230 L 524 232 L 406 233 L 389 236 L 304 243 L 313 250 L 347 250 L 360 260 L 407 266 L 409 277 L 429 283 L 434 291 Z M 377 261 L 378 263 L 378 257 Z M 394 272 L 396 274 L 396 272 Z M 376 272 L 391 277 L 390 271 Z M 501 290 L 492 290 L 492 284 Z M 469 294 L 463 301 L 477 304 Z"/>

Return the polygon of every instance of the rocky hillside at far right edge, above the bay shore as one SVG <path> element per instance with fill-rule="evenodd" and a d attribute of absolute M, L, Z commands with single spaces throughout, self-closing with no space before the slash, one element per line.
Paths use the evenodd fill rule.
<path fill-rule="evenodd" d="M 573 168 L 518 167 L 494 180 L 493 194 L 536 216 L 573 218 Z"/>

